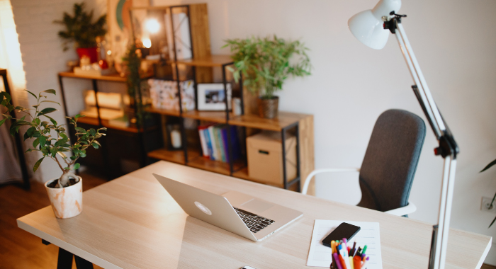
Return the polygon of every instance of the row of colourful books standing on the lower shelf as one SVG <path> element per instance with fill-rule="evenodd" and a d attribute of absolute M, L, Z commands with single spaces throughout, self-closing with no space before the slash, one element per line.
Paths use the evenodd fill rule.
<path fill-rule="evenodd" d="M 227 163 L 230 160 L 231 154 L 233 161 L 239 159 L 241 156 L 241 148 L 235 126 L 222 124 L 203 125 L 198 127 L 198 135 L 200 135 L 204 157 Z"/>

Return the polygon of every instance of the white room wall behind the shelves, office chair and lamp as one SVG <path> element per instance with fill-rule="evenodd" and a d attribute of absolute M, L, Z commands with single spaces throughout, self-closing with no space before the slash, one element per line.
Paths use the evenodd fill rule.
<path fill-rule="evenodd" d="M 106 1 L 87 2 L 105 12 Z M 424 118 L 395 38 L 383 50 L 372 50 L 349 33 L 348 18 L 372 8 L 376 0 L 152 0 L 155 6 L 198 2 L 208 3 L 213 53 L 228 53 L 220 49 L 227 38 L 274 33 L 301 38 L 310 48 L 312 76 L 289 80 L 279 96 L 281 110 L 315 115 L 316 168 L 360 166 L 373 124 L 384 110 L 401 108 Z M 12 1 L 31 91 L 58 88 L 57 72 L 75 57 L 74 52 L 62 53 L 58 26 L 51 23 L 73 3 Z M 496 158 L 495 11 L 492 0 L 405 0 L 400 10 L 408 14 L 405 30 L 461 148 L 451 227 L 490 236 L 496 227 L 487 226 L 494 215 L 480 212 L 480 198 L 494 195 L 496 168 L 478 171 Z M 410 195 L 418 207 L 410 217 L 430 223 L 436 222 L 442 170 L 442 160 L 432 154 L 434 147 L 428 130 Z M 44 173 L 50 171 L 45 168 Z M 346 198 L 339 200 L 360 199 L 356 175 L 346 177 L 349 183 L 333 185 L 325 178 L 317 178 L 318 196 L 344 190 Z M 486 262 L 495 264 L 496 253 Z"/>

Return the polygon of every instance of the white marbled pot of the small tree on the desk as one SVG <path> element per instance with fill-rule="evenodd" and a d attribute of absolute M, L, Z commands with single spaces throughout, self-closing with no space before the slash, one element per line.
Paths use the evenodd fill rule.
<path fill-rule="evenodd" d="M 52 203 L 52 210 L 55 217 L 59 219 L 68 219 L 76 217 L 83 211 L 83 179 L 78 176 L 79 182 L 66 188 L 48 188 L 47 185 L 58 178 L 52 179 L 45 183 L 48 198 Z"/>

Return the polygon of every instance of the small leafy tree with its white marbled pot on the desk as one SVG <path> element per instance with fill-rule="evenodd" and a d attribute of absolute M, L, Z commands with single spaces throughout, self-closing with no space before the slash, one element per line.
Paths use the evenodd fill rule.
<path fill-rule="evenodd" d="M 79 158 L 86 157 L 86 149 L 89 147 L 94 147 L 95 149 L 101 147 L 96 140 L 105 135 L 101 132 L 105 131 L 106 128 L 84 130 L 81 127 L 77 127 L 78 118 L 84 117 L 84 115 L 78 114 L 73 118 L 67 117 L 70 124 L 74 125 L 77 137 L 77 141 L 70 145 L 64 125 L 58 125 L 53 118 L 47 115 L 57 110 L 55 108 L 40 108 L 43 103 L 57 103 L 46 100 L 47 94 L 55 95 L 55 90 L 43 91 L 38 96 L 35 96 L 30 91 L 28 93 L 36 98 L 36 105 L 32 105 L 33 108 L 13 106 L 9 93 L 0 92 L 0 105 L 9 110 L 8 113 L 3 114 L 4 119 L 0 120 L 0 126 L 6 120 L 13 119 L 14 121 L 10 127 L 11 135 L 19 132 L 19 128 L 22 126 L 29 127 L 24 133 L 24 140 L 34 138 L 33 149 L 28 149 L 26 152 L 40 151 L 43 154 L 42 158 L 36 161 L 33 171 L 38 170 L 45 158 L 57 162 L 62 170 L 60 178 L 55 178 L 45 183 L 55 217 L 67 219 L 77 216 L 83 210 L 83 181 L 80 176 L 74 175 L 72 171 L 79 168 L 79 164 L 76 161 Z M 9 114 L 12 110 L 17 110 L 18 113 L 24 113 L 25 115 L 22 118 L 12 118 Z M 43 120 L 45 118 L 50 122 Z M 67 153 L 71 153 L 72 156 L 67 156 Z"/>

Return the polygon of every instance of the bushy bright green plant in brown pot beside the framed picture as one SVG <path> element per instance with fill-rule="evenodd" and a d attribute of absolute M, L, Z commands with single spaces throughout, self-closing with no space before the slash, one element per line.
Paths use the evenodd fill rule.
<path fill-rule="evenodd" d="M 259 98 L 259 114 L 264 118 L 275 118 L 278 110 L 276 91 L 282 90 L 283 83 L 290 76 L 310 74 L 308 48 L 300 42 L 282 38 L 246 38 L 225 40 L 235 62 L 235 81 L 243 76 L 243 85 Z"/>

